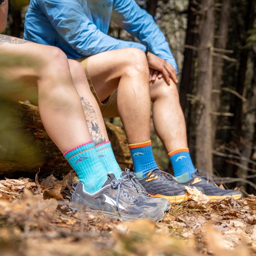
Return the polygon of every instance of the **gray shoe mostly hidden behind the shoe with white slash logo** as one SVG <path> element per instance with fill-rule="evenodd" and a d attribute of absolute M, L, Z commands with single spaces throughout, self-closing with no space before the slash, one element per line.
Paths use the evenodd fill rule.
<path fill-rule="evenodd" d="M 139 200 L 147 201 L 148 203 L 158 203 L 159 206 L 163 208 L 163 211 L 169 211 L 170 203 L 166 199 L 161 197 L 147 196 L 146 189 L 140 184 L 138 180 L 136 180 L 136 177 L 133 175 L 133 173 L 130 173 L 129 169 L 125 169 L 125 172 L 122 172 L 121 176 L 123 177 L 126 174 L 129 175 L 129 178 L 131 178 L 131 181 L 133 183 L 134 189 L 136 189 L 138 192 L 136 198 L 138 198 Z"/>

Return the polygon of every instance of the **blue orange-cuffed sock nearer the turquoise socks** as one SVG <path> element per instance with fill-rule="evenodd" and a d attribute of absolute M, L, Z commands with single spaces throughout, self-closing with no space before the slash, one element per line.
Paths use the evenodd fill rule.
<path fill-rule="evenodd" d="M 158 168 L 154 159 L 151 140 L 128 146 L 132 156 L 134 174 L 138 179 L 144 178 L 146 173 Z"/>

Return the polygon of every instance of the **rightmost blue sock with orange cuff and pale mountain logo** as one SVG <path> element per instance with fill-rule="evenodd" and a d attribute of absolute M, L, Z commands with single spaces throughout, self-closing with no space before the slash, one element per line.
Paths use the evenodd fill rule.
<path fill-rule="evenodd" d="M 192 163 L 188 148 L 178 148 L 168 154 L 173 166 L 174 177 L 181 176 L 188 173 L 188 180 L 192 178 L 195 173 L 195 167 Z"/>

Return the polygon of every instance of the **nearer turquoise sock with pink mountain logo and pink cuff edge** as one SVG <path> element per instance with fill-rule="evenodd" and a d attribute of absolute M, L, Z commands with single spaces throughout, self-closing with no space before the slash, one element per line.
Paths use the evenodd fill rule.
<path fill-rule="evenodd" d="M 101 189 L 108 178 L 108 172 L 99 161 L 93 141 L 72 148 L 63 156 L 75 170 L 79 180 L 83 182 L 86 192 L 93 194 Z"/>

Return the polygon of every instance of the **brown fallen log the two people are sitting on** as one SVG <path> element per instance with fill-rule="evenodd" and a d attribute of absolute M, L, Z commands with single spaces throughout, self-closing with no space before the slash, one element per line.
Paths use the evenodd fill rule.
<path fill-rule="evenodd" d="M 11 132 L 0 135 L 0 176 L 34 177 L 39 168 L 40 175 L 52 172 L 65 174 L 72 169 L 46 133 L 37 106 L 9 102 L 5 109 L 8 109 L 12 123 L 5 127 L 5 131 L 9 129 Z M 12 132 L 13 125 L 18 125 L 18 129 L 14 130 L 15 133 L 19 132 L 18 135 Z M 132 160 L 124 130 L 110 123 L 106 123 L 106 129 L 120 167 L 131 168 Z"/>

